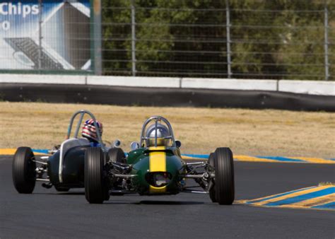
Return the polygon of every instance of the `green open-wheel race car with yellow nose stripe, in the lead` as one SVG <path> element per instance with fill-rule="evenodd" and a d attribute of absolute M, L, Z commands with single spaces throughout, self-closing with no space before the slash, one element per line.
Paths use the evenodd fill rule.
<path fill-rule="evenodd" d="M 207 162 L 186 163 L 180 154 L 170 122 L 153 116 L 142 127 L 139 143 L 131 143 L 126 160 L 106 161 L 102 148 L 88 148 L 85 156 L 85 196 L 101 204 L 110 195 L 138 193 L 165 195 L 180 192 L 209 194 L 212 202 L 233 204 L 235 197 L 233 153 L 216 148 Z M 124 161 L 124 162 L 122 162 Z M 188 180 L 194 185 L 188 186 Z"/>

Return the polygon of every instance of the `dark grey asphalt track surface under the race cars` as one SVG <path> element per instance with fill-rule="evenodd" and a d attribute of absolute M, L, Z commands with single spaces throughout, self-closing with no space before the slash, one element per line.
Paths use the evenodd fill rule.
<path fill-rule="evenodd" d="M 334 238 L 335 213 L 213 204 L 206 194 L 114 196 L 88 204 L 83 190 L 37 184 L 18 194 L 11 157 L 0 156 L 0 238 Z M 235 162 L 236 199 L 335 181 L 335 165 Z"/>

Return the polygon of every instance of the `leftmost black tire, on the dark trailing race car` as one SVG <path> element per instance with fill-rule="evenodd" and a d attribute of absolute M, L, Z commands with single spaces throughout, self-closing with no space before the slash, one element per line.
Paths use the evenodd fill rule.
<path fill-rule="evenodd" d="M 31 194 L 36 182 L 36 163 L 31 148 L 19 147 L 13 157 L 12 175 L 14 187 L 19 193 Z"/>

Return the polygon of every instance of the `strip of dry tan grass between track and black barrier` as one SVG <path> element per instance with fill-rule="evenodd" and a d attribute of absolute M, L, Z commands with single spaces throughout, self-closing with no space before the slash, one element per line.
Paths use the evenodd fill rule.
<path fill-rule="evenodd" d="M 138 141 L 151 115 L 170 120 L 183 153 L 229 146 L 235 154 L 335 158 L 335 114 L 283 110 L 191 107 L 121 107 L 50 103 L 0 103 L 0 148 L 50 148 L 64 140 L 69 118 L 86 109 L 104 124 L 103 139 Z"/>

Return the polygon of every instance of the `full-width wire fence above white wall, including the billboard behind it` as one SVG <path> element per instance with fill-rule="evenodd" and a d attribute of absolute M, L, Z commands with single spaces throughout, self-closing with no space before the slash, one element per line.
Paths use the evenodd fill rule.
<path fill-rule="evenodd" d="M 334 81 L 334 13 L 331 0 L 0 1 L 0 71 Z"/>

